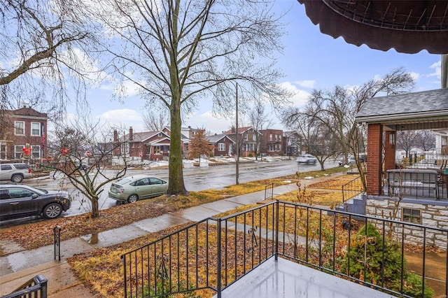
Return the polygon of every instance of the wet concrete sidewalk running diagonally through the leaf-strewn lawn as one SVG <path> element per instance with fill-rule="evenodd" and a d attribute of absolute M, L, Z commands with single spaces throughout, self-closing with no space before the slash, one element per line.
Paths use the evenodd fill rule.
<path fill-rule="evenodd" d="M 321 180 L 335 178 L 337 175 L 338 173 L 335 173 L 331 176 L 301 180 L 301 183 L 302 186 L 306 186 Z M 274 197 L 286 192 L 292 192 L 293 190 L 297 190 L 295 183 L 274 187 Z M 0 295 L 6 295 L 27 282 L 30 278 L 38 274 L 43 274 L 48 280 L 48 297 L 92 297 L 89 290 L 73 275 L 69 264 L 65 262 L 67 258 L 96 248 L 130 241 L 148 232 L 158 232 L 173 225 L 203 220 L 240 206 L 255 204 L 264 199 L 264 190 L 252 192 L 187 208 L 174 213 L 167 213 L 157 218 L 140 220 L 124 227 L 99 232 L 97 235 L 97 243 L 90 243 L 91 235 L 62 241 L 60 244 L 60 262 L 53 260 L 53 245 L 43 246 L 34 250 L 25 250 L 20 246 L 5 243 L 5 241 L 0 240 L 0 245 L 3 247 L 5 253 L 8 254 L 6 257 L 0 257 Z"/>

